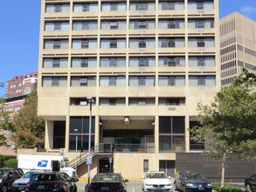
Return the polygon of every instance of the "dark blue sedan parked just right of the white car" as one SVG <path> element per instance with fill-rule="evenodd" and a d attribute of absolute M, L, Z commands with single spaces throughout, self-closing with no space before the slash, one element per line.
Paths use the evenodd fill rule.
<path fill-rule="evenodd" d="M 211 192 L 212 185 L 204 175 L 198 172 L 178 171 L 176 173 L 174 188 L 176 190 L 188 191 L 205 191 Z"/>

